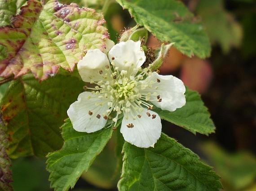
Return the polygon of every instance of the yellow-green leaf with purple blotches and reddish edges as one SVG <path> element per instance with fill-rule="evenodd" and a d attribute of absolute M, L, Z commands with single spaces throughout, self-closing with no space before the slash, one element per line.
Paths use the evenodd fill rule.
<path fill-rule="evenodd" d="M 84 51 L 106 47 L 104 23 L 101 14 L 77 4 L 27 1 L 12 19 L 13 27 L 0 28 L 0 45 L 8 53 L 0 61 L 0 76 L 18 77 L 31 71 L 44 80 L 59 68 L 73 71 Z"/>

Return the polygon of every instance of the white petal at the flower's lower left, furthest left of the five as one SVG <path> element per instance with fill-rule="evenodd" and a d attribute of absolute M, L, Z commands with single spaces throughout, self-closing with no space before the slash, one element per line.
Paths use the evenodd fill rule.
<path fill-rule="evenodd" d="M 106 98 L 105 98 L 106 99 Z M 91 92 L 80 93 L 76 102 L 72 103 L 67 110 L 73 128 L 78 132 L 96 132 L 106 125 L 103 116 L 108 109 L 107 100 L 98 98 L 98 95 Z M 96 103 L 105 103 L 102 106 Z M 91 115 L 89 115 L 89 112 Z M 100 115 L 100 116 L 99 116 Z"/>

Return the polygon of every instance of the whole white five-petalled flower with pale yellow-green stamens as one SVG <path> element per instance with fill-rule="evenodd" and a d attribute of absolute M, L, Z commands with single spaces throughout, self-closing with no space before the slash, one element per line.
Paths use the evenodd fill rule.
<path fill-rule="evenodd" d="M 161 119 L 153 105 L 174 111 L 185 105 L 185 86 L 174 76 L 161 76 L 141 69 L 146 56 L 141 42 L 128 40 L 113 46 L 108 57 L 89 50 L 77 67 L 83 81 L 95 84 L 71 104 L 67 114 L 78 132 L 95 132 L 107 119 L 115 126 L 120 116 L 124 140 L 137 147 L 154 146 L 161 135 Z M 153 105 L 152 105 L 153 104 Z"/>

